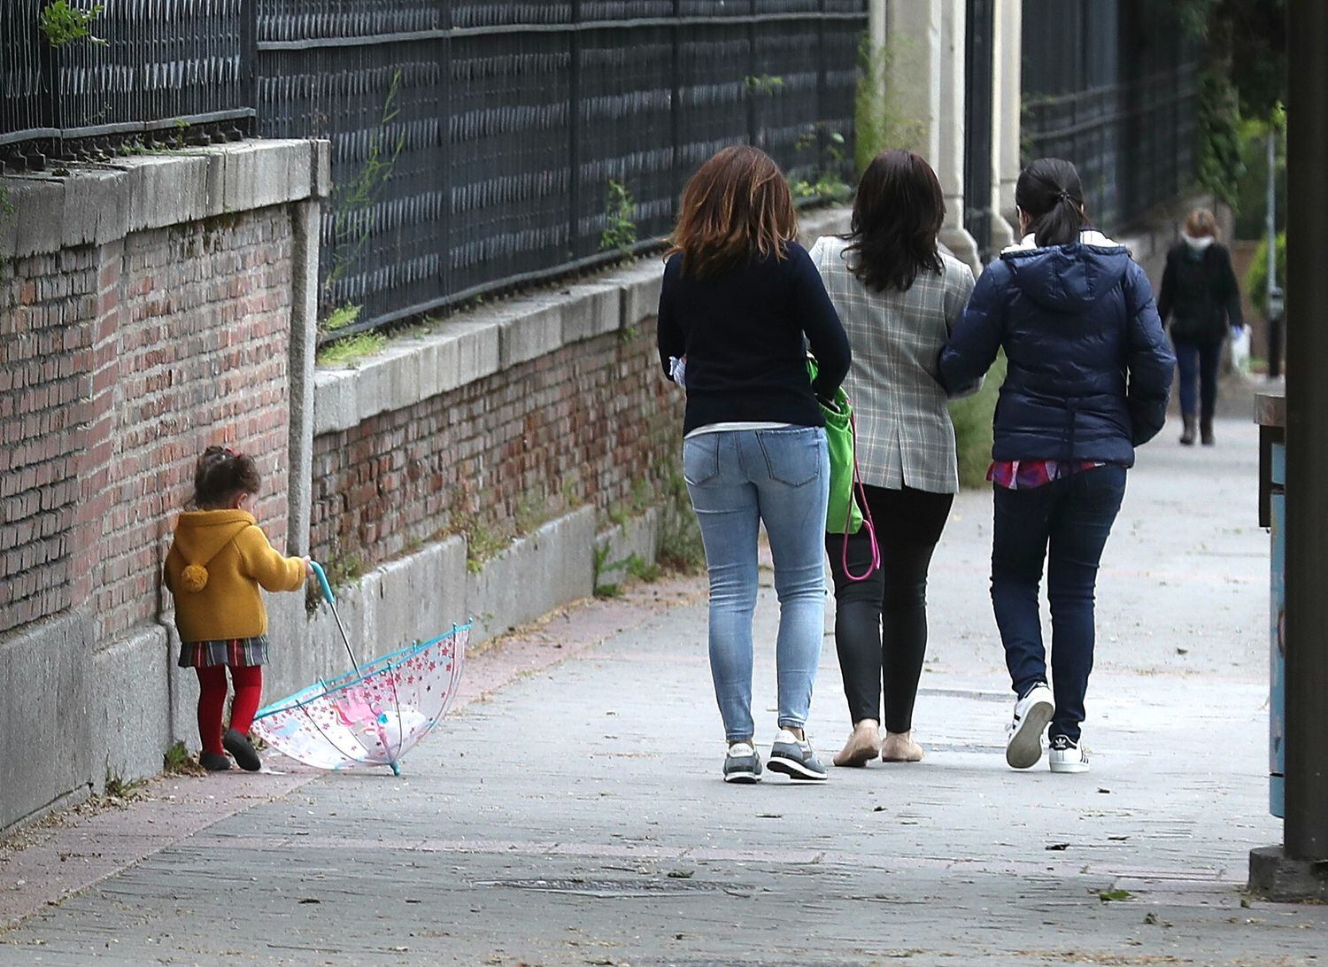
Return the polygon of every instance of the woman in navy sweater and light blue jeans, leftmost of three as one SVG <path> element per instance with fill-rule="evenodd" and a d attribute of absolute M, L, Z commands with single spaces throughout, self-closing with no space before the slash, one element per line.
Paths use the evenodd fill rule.
<path fill-rule="evenodd" d="M 688 182 L 680 213 L 660 292 L 659 351 L 664 372 L 687 388 L 683 476 L 710 578 L 710 673 L 729 743 L 724 778 L 761 777 L 752 615 L 764 522 L 780 598 L 780 731 L 769 766 L 823 780 L 803 732 L 821 661 L 830 493 L 817 397 L 833 397 L 849 372 L 849 340 L 794 240 L 789 185 L 762 151 L 721 150 Z"/>

